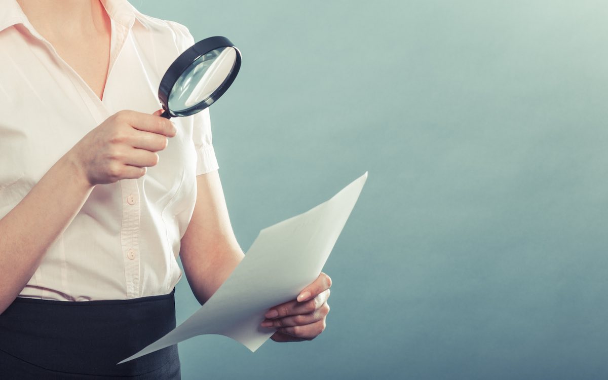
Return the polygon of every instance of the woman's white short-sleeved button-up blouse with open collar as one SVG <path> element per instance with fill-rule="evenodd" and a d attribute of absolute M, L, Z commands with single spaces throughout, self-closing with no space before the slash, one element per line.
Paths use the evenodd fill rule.
<path fill-rule="evenodd" d="M 162 75 L 194 43 L 184 26 L 142 15 L 126 0 L 102 4 L 112 24 L 103 101 L 36 32 L 16 0 L 0 0 L 0 218 L 106 118 L 122 109 L 160 109 Z M 19 297 L 133 299 L 173 289 L 181 278 L 176 257 L 195 205 L 196 176 L 218 164 L 207 110 L 172 121 L 178 134 L 158 152 L 159 164 L 142 178 L 95 186 Z"/>

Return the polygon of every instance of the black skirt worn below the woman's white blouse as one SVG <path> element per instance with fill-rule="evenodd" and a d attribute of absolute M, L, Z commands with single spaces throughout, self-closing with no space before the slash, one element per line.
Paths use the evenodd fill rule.
<path fill-rule="evenodd" d="M 0 315 L 0 379 L 180 379 L 177 345 L 116 364 L 173 330 L 174 292 L 88 302 L 18 298 Z"/>

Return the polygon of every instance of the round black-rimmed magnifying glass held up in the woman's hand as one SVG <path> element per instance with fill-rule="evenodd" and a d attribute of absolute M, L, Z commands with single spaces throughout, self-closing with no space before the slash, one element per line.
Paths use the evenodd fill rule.
<path fill-rule="evenodd" d="M 232 85 L 241 52 L 226 37 L 205 38 L 176 58 L 158 89 L 162 117 L 190 116 L 212 105 Z"/>

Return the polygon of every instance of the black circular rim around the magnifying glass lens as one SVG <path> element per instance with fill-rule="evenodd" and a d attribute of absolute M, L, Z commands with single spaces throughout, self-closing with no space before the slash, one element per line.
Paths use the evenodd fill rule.
<path fill-rule="evenodd" d="M 171 94 L 171 89 L 173 89 L 175 82 L 182 75 L 185 69 L 190 67 L 195 60 L 212 50 L 219 49 L 220 47 L 232 47 L 237 52 L 237 59 L 235 60 L 230 74 L 226 77 L 222 84 L 219 85 L 219 87 L 202 102 L 181 111 L 172 111 L 169 108 L 169 95 Z M 176 60 L 173 61 L 173 63 L 171 63 L 171 66 L 169 66 L 167 72 L 165 72 L 165 75 L 162 77 L 161 85 L 158 89 L 158 98 L 161 100 L 163 109 L 168 112 L 169 116 L 190 116 L 196 112 L 202 111 L 218 100 L 218 98 L 221 97 L 224 92 L 226 92 L 230 85 L 232 85 L 232 82 L 237 77 L 240 68 L 241 52 L 236 46 L 234 46 L 232 42 L 230 42 L 230 40 L 223 36 L 205 38 L 204 40 L 198 41 L 198 43 L 192 45 L 191 47 L 188 47 L 188 49 L 186 49 L 182 54 L 179 55 L 178 58 L 176 58 Z"/>

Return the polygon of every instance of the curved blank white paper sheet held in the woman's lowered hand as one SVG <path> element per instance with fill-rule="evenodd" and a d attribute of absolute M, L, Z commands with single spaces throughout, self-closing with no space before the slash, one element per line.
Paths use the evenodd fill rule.
<path fill-rule="evenodd" d="M 120 363 L 202 334 L 231 337 L 257 350 L 275 332 L 260 326 L 264 314 L 295 299 L 319 276 L 366 179 L 367 171 L 329 201 L 261 230 L 243 261 L 196 313 Z"/>

